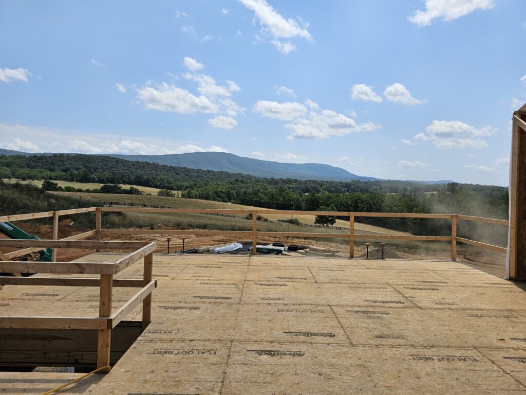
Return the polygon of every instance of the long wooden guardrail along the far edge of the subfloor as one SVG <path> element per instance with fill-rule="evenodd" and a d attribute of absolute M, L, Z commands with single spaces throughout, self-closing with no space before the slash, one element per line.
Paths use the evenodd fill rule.
<path fill-rule="evenodd" d="M 108 202 L 106 202 L 108 203 Z M 119 202 L 110 202 L 119 203 Z M 122 203 L 122 202 L 120 202 Z M 120 204 L 119 203 L 119 204 Z M 498 245 L 481 243 L 474 240 L 464 239 L 457 237 L 457 223 L 461 221 L 474 221 L 481 223 L 489 223 L 495 225 L 509 226 L 509 221 L 499 220 L 492 218 L 482 218 L 470 215 L 457 215 L 457 214 L 423 214 L 423 213 L 365 213 L 365 212 L 347 212 L 347 211 L 297 211 L 297 210 L 247 210 L 247 209 L 172 209 L 172 208 L 146 208 L 142 206 L 137 207 L 97 207 L 87 209 L 75 209 L 75 210 L 63 210 L 63 211 L 50 211 L 44 213 L 31 213 L 31 214 L 18 214 L 18 215 L 5 215 L 0 216 L 0 222 L 2 221 L 14 221 L 14 220 L 29 220 L 35 218 L 45 218 L 53 216 L 54 219 L 54 235 L 55 229 L 58 230 L 58 216 L 75 214 L 80 212 L 95 212 L 96 215 L 96 229 L 93 231 L 86 232 L 78 237 L 95 236 L 96 240 L 102 238 L 102 234 L 196 234 L 196 235 L 223 235 L 223 236 L 248 236 L 252 239 L 252 253 L 256 253 L 256 240 L 257 236 L 281 236 L 281 237 L 295 237 L 295 238 L 345 238 L 349 239 L 349 258 L 354 256 L 354 243 L 358 239 L 369 239 L 369 240 L 413 240 L 413 241 L 450 241 L 451 242 L 451 259 L 457 259 L 457 243 L 466 243 L 473 246 L 477 246 L 483 249 L 506 252 L 507 249 Z M 251 214 L 252 216 L 252 230 L 251 231 L 214 231 L 214 230 L 146 230 L 146 229 L 102 229 L 101 218 L 103 212 L 124 212 L 124 213 L 194 213 L 194 214 L 214 214 L 214 215 L 234 215 L 234 214 Z M 290 215 L 332 215 L 332 216 L 346 216 L 349 218 L 349 232 L 348 233 L 310 233 L 310 232 L 261 232 L 257 230 L 257 216 L 268 215 L 268 214 L 290 214 Z M 414 218 L 414 219 L 447 219 L 451 220 L 451 236 L 416 236 L 416 235 L 387 235 L 387 234 L 356 234 L 355 233 L 355 218 L 356 217 L 369 217 L 369 218 Z M 74 236 L 75 237 L 75 236 Z M 22 254 L 21 251 L 12 253 L 12 256 L 19 256 L 16 254 Z M 27 252 L 26 252 L 27 253 Z"/>

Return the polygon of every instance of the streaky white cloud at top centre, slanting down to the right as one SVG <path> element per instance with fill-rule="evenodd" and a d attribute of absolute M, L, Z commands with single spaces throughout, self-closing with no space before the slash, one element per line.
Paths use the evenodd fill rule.
<path fill-rule="evenodd" d="M 278 48 L 281 53 L 288 54 L 296 49 L 290 41 L 281 42 L 281 38 L 290 40 L 291 38 L 302 37 L 308 42 L 312 42 L 312 36 L 307 30 L 309 24 L 300 17 L 285 19 L 265 0 L 239 1 L 248 9 L 254 11 L 261 25 L 261 35 L 270 35 L 273 39 L 270 41 L 271 44 Z M 255 21 L 253 22 L 255 23 Z"/>

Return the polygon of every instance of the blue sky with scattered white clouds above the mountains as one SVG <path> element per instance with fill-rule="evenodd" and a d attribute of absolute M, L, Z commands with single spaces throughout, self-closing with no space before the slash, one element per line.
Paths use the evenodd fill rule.
<path fill-rule="evenodd" d="M 0 1 L 0 147 L 508 184 L 523 0 Z"/>

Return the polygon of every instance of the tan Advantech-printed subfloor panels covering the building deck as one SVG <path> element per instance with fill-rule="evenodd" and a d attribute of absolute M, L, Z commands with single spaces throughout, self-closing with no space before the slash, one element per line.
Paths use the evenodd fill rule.
<path fill-rule="evenodd" d="M 154 278 L 146 331 L 110 373 L 64 393 L 526 395 L 526 287 L 468 265 L 155 255 Z M 0 310 L 96 314 L 96 291 L 5 287 Z M 72 377 L 0 372 L 0 393 Z"/>

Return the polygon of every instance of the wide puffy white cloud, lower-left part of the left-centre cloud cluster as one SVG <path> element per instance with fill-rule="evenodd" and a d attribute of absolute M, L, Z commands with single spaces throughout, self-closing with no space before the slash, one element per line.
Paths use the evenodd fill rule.
<path fill-rule="evenodd" d="M 179 114 L 219 112 L 219 106 L 205 95 L 195 96 L 185 89 L 163 82 L 157 89 L 145 86 L 138 92 L 139 99 L 148 110 Z"/>

